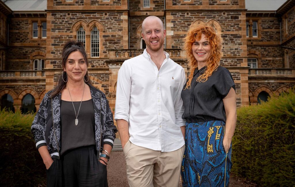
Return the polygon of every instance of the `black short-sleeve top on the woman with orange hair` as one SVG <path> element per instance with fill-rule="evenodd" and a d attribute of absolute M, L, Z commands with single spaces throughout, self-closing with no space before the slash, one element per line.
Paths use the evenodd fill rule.
<path fill-rule="evenodd" d="M 230 72 L 221 66 L 208 77 L 205 82 L 197 82 L 196 79 L 205 72 L 205 67 L 194 71 L 191 88 L 181 92 L 184 105 L 182 118 L 187 123 L 199 123 L 205 121 L 226 121 L 223 98 L 230 89 L 235 89 L 235 83 Z"/>

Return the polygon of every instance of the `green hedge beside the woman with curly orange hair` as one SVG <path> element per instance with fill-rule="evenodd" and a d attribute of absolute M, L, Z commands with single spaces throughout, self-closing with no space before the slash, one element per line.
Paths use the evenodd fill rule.
<path fill-rule="evenodd" d="M 260 186 L 295 186 L 295 93 L 237 110 L 232 173 Z"/>

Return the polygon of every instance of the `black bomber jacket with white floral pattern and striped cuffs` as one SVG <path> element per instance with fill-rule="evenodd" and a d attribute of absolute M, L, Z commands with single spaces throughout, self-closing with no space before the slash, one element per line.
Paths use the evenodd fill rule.
<path fill-rule="evenodd" d="M 106 95 L 89 85 L 92 102 L 94 106 L 94 126 L 97 156 L 103 149 L 103 144 L 113 147 L 116 132 L 113 113 L 109 107 Z M 61 94 L 51 98 L 53 90 L 47 92 L 40 104 L 40 108 L 32 123 L 31 131 L 34 135 L 37 149 L 47 146 L 52 158 L 59 159 L 60 152 L 60 102 Z M 51 104 L 52 102 L 52 104 Z M 101 107 L 102 106 L 102 107 Z M 53 112 L 52 112 L 53 110 Z"/>

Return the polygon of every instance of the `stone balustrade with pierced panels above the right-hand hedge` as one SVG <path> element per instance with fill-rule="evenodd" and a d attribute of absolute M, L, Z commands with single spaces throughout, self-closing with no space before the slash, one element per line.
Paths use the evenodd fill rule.
<path fill-rule="evenodd" d="M 295 77 L 295 69 L 286 68 L 256 68 L 249 69 L 249 77 L 256 76 L 284 76 Z"/>

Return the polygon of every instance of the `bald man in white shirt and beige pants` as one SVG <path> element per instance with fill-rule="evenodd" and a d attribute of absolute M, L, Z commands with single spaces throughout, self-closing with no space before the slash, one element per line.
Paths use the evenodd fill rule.
<path fill-rule="evenodd" d="M 164 51 L 161 19 L 142 22 L 143 54 L 124 61 L 117 81 L 115 119 L 131 187 L 179 185 L 185 121 L 184 69 Z"/>

